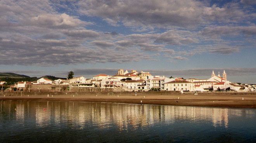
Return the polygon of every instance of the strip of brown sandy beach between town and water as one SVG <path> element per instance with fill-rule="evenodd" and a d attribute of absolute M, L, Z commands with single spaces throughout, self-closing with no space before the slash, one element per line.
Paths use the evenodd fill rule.
<path fill-rule="evenodd" d="M 145 96 L 145 98 L 144 98 Z M 242 99 L 244 98 L 244 100 Z M 208 107 L 238 107 L 256 108 L 256 95 L 152 95 L 143 94 L 140 96 L 104 94 L 86 95 L 55 95 L 41 96 L 0 96 L 0 100 L 26 100 L 26 101 L 83 101 L 83 102 L 108 102 L 108 103 L 133 103 L 133 104 L 157 104 L 174 106 L 208 106 Z"/>

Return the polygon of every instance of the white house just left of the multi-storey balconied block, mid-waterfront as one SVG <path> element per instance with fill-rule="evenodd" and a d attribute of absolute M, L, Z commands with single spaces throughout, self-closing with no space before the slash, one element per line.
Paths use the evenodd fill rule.
<path fill-rule="evenodd" d="M 143 80 L 127 80 L 123 83 L 123 86 L 130 91 L 138 91 L 144 89 L 144 82 Z"/>

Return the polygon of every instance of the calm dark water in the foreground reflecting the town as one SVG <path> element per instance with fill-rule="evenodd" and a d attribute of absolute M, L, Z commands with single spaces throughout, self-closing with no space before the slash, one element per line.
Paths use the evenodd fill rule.
<path fill-rule="evenodd" d="M 0 142 L 256 142 L 256 109 L 0 101 Z"/>

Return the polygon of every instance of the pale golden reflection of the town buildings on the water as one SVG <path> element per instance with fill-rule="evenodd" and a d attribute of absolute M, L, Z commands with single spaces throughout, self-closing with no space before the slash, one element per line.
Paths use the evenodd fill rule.
<path fill-rule="evenodd" d="M 12 116 L 13 113 L 15 116 Z M 214 127 L 228 128 L 229 116 L 253 116 L 246 109 L 205 108 L 189 106 L 156 106 L 121 103 L 91 103 L 63 101 L 0 101 L 0 115 L 24 122 L 35 119 L 36 126 L 63 123 L 83 129 L 85 126 L 118 130 L 136 129 L 160 122 L 172 124 L 184 121 L 210 122 Z"/>

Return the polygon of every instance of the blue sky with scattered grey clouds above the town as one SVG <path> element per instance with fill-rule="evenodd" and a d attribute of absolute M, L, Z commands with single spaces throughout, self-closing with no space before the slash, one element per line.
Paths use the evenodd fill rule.
<path fill-rule="evenodd" d="M 255 0 L 1 0 L 0 72 L 256 84 Z"/>

